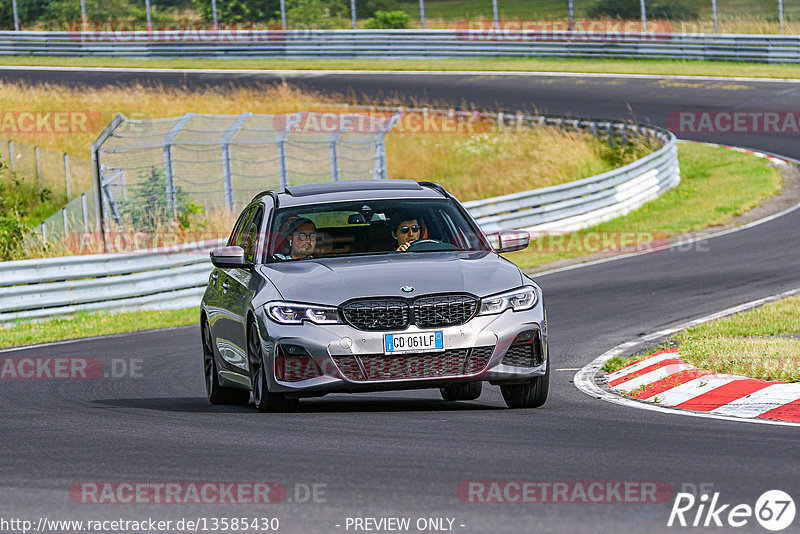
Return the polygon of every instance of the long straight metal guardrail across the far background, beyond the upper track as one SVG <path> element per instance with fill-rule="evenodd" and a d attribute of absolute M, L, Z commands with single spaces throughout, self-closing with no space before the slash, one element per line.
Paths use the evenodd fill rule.
<path fill-rule="evenodd" d="M 436 58 L 547 56 L 800 62 L 800 36 L 582 31 L 2 31 L 0 56 Z"/>

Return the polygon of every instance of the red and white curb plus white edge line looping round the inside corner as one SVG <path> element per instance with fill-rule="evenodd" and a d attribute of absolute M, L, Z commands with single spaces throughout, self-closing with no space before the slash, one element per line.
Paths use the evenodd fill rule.
<path fill-rule="evenodd" d="M 640 350 L 647 344 L 662 340 L 676 332 L 686 330 L 687 328 L 798 294 L 800 294 L 800 288 L 785 291 L 777 295 L 746 302 L 718 313 L 700 317 L 699 319 L 679 324 L 673 328 L 642 336 L 637 341 L 628 341 L 617 345 L 582 367 L 575 374 L 575 387 L 597 399 L 613 404 L 621 404 L 630 408 L 690 417 L 794 426 L 800 428 L 800 418 L 772 418 L 775 415 L 789 414 L 797 416 L 797 414 L 800 413 L 800 399 L 798 398 L 800 395 L 793 396 L 795 388 L 798 388 L 797 391 L 800 393 L 800 384 L 769 382 L 722 374 L 713 374 L 712 377 L 710 371 L 696 369 L 682 361 L 677 351 L 661 351 L 651 355 L 652 359 L 648 358 L 643 362 L 634 363 L 623 368 L 626 375 L 631 376 L 628 380 L 622 382 L 612 384 L 612 382 L 621 378 L 623 376 L 622 374 L 616 375 L 612 373 L 606 376 L 604 373 L 601 373 L 603 365 L 615 356 L 631 354 L 636 350 Z M 621 369 L 620 371 L 623 370 Z M 617 371 L 617 373 L 620 371 Z M 636 375 L 637 371 L 640 372 L 638 375 Z M 683 375 L 678 378 L 676 375 L 680 373 L 683 373 Z M 645 377 L 645 375 L 650 376 Z M 618 388 L 620 391 L 613 389 L 615 385 L 625 383 L 625 389 L 627 391 L 634 391 L 635 389 L 642 388 L 642 393 L 645 393 L 650 391 L 648 390 L 648 386 L 665 379 L 664 382 L 661 382 L 662 387 L 665 385 L 672 385 L 669 382 L 670 378 L 680 383 L 676 383 L 674 387 L 665 387 L 662 393 L 655 393 L 652 398 L 649 399 L 640 400 L 624 395 L 623 388 Z M 704 383 L 704 380 L 706 383 Z M 742 382 L 749 385 L 742 385 Z M 696 390 L 699 389 L 702 389 L 703 393 L 697 394 Z M 637 391 L 637 393 L 639 392 Z M 715 395 L 716 398 L 714 398 Z M 769 398 L 765 399 L 765 395 L 769 395 Z M 656 402 L 656 400 L 659 402 Z M 780 405 L 773 405 L 772 403 L 780 403 Z M 770 417 L 765 417 L 767 414 L 769 414 Z"/>

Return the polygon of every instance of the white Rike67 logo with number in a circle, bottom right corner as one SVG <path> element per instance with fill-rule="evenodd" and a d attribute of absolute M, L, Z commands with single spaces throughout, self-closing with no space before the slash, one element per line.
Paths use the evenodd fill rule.
<path fill-rule="evenodd" d="M 723 503 L 719 492 L 699 497 L 681 492 L 675 496 L 667 526 L 739 528 L 752 525 L 755 519 L 765 529 L 777 532 L 794 522 L 795 511 L 794 500 L 781 490 L 764 492 L 755 506 Z"/>

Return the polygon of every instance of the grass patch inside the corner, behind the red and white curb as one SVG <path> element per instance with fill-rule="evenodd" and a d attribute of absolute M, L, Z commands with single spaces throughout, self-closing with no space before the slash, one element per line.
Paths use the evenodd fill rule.
<path fill-rule="evenodd" d="M 775 337 L 798 332 L 800 296 L 795 296 L 690 328 L 673 336 L 671 342 L 680 346 L 681 359 L 699 369 L 800 382 L 800 339 Z M 643 357 L 612 358 L 603 371 L 616 371 Z"/>

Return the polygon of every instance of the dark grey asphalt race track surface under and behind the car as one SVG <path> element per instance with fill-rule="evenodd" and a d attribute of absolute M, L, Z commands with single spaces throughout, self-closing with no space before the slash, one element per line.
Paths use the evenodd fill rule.
<path fill-rule="evenodd" d="M 281 76 L 6 68 L 0 79 L 199 86 L 272 83 Z M 371 98 L 635 117 L 662 126 L 675 111 L 797 110 L 800 101 L 798 82 L 364 73 L 286 79 Z M 678 135 L 800 158 L 797 134 Z M 459 500 L 457 488 L 466 481 L 664 481 L 675 492 L 685 484 L 713 484 L 719 503 L 732 506 L 753 506 L 771 489 L 797 501 L 800 429 L 612 405 L 581 393 L 571 380 L 575 368 L 621 342 L 800 287 L 798 229 L 800 210 L 691 247 L 540 277 L 554 372 L 550 399 L 537 410 L 504 409 L 494 387 L 474 402 L 446 403 L 437 391 L 422 391 L 331 395 L 303 401 L 297 414 L 213 407 L 205 399 L 197 327 L 0 353 L 90 356 L 107 369 L 112 359 L 141 366 L 136 376 L 121 378 L 2 381 L 0 516 L 278 517 L 281 532 L 302 533 L 353 532 L 348 517 L 409 517 L 412 527 L 418 518 L 441 517 L 464 533 L 649 533 L 675 530 L 667 527 L 672 494 L 658 504 L 476 504 Z M 85 481 L 275 481 L 292 502 L 73 502 L 69 488 Z M 324 485 L 324 494 L 317 502 L 297 502 L 312 484 Z M 737 531 L 764 530 L 751 517 Z"/>

